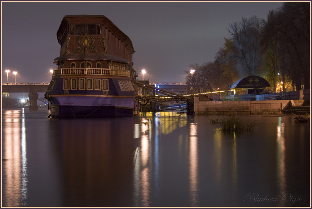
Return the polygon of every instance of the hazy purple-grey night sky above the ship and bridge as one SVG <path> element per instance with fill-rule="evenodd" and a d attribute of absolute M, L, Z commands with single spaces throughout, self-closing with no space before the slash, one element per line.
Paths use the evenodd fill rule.
<path fill-rule="evenodd" d="M 133 43 L 133 68 L 150 82 L 185 82 L 190 64 L 213 61 L 229 23 L 267 17 L 282 2 L 1 2 L 2 82 L 50 82 L 65 15 L 105 15 Z M 140 79 L 140 77 L 139 77 Z"/>

